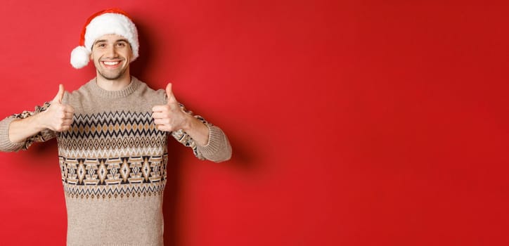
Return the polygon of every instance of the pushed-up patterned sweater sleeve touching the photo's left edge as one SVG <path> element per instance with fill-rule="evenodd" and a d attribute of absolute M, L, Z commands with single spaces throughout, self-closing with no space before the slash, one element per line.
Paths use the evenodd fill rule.
<path fill-rule="evenodd" d="M 32 115 L 36 115 L 39 112 L 43 112 L 49 107 L 50 103 L 44 103 L 42 106 L 36 106 L 34 111 L 23 111 L 20 114 L 14 114 L 0 121 L 0 151 L 11 152 L 18 150 L 27 150 L 30 145 L 34 142 L 44 142 L 48 141 L 51 138 L 56 137 L 56 133 L 49 129 L 44 131 L 39 131 L 39 133 L 34 136 L 30 136 L 20 143 L 13 143 L 9 139 L 9 126 L 11 122 L 16 119 L 25 119 L 27 117 L 31 117 Z"/>

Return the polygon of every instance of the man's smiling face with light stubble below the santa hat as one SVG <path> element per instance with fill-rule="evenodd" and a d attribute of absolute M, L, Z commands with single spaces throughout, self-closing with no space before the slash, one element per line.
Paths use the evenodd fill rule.
<path fill-rule="evenodd" d="M 129 63 L 132 57 L 133 52 L 129 41 L 117 34 L 105 34 L 99 37 L 92 46 L 90 55 L 90 59 L 94 60 L 97 76 L 108 80 L 129 75 Z"/>

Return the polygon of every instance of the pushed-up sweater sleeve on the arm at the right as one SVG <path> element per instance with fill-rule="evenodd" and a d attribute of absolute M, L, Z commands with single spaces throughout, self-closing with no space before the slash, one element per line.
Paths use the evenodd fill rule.
<path fill-rule="evenodd" d="M 186 110 L 182 104 L 180 104 L 180 106 L 182 110 L 193 115 L 193 112 Z M 200 115 L 193 115 L 193 117 L 199 119 L 209 128 L 208 143 L 206 145 L 199 145 L 183 130 L 172 131 L 172 136 L 176 139 L 176 141 L 179 141 L 183 145 L 193 149 L 194 155 L 200 160 L 210 160 L 212 162 L 224 162 L 229 160 L 231 157 L 231 145 L 226 134 L 224 134 L 224 131 L 213 124 L 210 124 Z"/>

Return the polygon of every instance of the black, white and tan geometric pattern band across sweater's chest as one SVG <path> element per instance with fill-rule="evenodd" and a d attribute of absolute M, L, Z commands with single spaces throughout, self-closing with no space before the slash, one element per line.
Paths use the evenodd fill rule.
<path fill-rule="evenodd" d="M 59 134 L 58 145 L 70 198 L 161 195 L 165 188 L 167 136 L 148 112 L 75 115 L 71 129 Z"/>

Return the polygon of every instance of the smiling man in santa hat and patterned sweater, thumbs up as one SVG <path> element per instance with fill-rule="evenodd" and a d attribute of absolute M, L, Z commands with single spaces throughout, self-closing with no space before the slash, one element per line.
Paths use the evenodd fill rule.
<path fill-rule="evenodd" d="M 131 77 L 138 34 L 127 13 L 87 20 L 73 67 L 93 60 L 96 78 L 72 93 L 0 122 L 0 150 L 56 137 L 67 205 L 67 245 L 162 245 L 167 136 L 202 160 L 221 162 L 231 146 L 221 129 L 193 116 L 172 93 Z"/>

